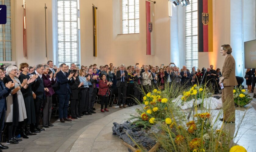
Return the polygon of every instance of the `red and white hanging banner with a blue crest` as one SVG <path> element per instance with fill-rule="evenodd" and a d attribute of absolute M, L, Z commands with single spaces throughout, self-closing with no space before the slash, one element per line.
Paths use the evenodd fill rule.
<path fill-rule="evenodd" d="M 146 1 L 147 55 L 155 55 L 155 4 Z"/>

